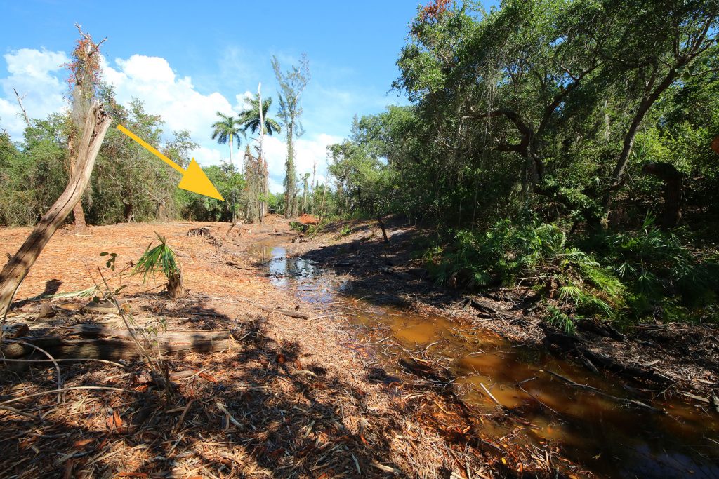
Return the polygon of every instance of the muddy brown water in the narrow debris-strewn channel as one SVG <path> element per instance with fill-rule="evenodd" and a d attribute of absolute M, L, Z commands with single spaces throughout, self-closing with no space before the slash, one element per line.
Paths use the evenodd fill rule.
<path fill-rule="evenodd" d="M 362 300 L 348 283 L 311 261 L 288 257 L 283 247 L 261 244 L 252 251 L 265 262 L 270 281 L 298 299 L 344 312 L 349 322 L 388 335 L 404 348 L 428 348 L 457 376 L 464 401 L 487 413 L 503 406 L 533 427 L 535 445 L 551 443 L 597 477 L 719 478 L 719 414 L 682 401 L 651 401 L 668 414 L 628 409 L 617 401 L 577 389 L 547 371 L 608 394 L 630 397 L 622 382 L 595 374 L 539 348 L 513 345 L 486 330 L 444 317 L 426 317 Z M 376 336 L 376 335 L 375 335 Z M 384 345 L 375 346 L 383 355 Z M 391 371 L 390 371 L 391 373 Z M 485 421 L 487 434 L 501 437 L 513 425 Z"/>

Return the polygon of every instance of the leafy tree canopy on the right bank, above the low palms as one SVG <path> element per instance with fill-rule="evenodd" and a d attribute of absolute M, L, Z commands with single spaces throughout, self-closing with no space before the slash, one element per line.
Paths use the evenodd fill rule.
<path fill-rule="evenodd" d="M 636 225 L 647 210 L 671 226 L 678 199 L 656 197 L 682 177 L 687 213 L 715 214 L 718 10 L 437 1 L 398 60 L 412 105 L 361 118 L 331 148 L 340 190 L 457 228 L 529 213 Z"/>

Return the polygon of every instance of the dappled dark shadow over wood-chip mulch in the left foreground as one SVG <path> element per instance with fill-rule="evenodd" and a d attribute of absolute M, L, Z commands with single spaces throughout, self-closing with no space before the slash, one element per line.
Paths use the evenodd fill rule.
<path fill-rule="evenodd" d="M 395 426 L 366 404 L 364 391 L 304 363 L 298 343 L 269 338 L 262 317 L 229 318 L 196 309 L 188 316 L 203 326 L 234 324 L 236 345 L 223 353 L 188 356 L 189 364 L 166 358 L 171 393 L 143 379 L 147 368 L 139 361 L 130 363 L 129 371 L 63 364 L 66 386 L 103 384 L 124 391 L 68 391 L 62 404 L 53 395 L 5 404 L 25 415 L 0 412 L 3 475 L 391 475 L 377 469 L 380 464 L 406 476 L 389 458 Z M 54 389 L 54 381 L 52 366 L 19 375 L 0 371 L 5 394 L 0 405 Z"/>

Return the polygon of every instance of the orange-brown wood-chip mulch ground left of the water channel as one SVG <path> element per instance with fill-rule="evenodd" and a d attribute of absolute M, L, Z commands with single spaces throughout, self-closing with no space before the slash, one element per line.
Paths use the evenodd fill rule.
<path fill-rule="evenodd" d="M 190 233 L 190 231 L 193 233 Z M 226 329 L 217 353 L 155 357 L 147 364 L 60 362 L 0 369 L 0 468 L 35 478 L 493 478 L 562 477 L 556 452 L 485 437 L 466 406 L 426 378 L 388 376 L 327 310 L 298 302 L 268 281 L 257 242 L 289 241 L 285 220 L 122 224 L 59 231 L 19 289 L 8 323 L 29 335 L 62 333 L 118 316 L 80 311 L 86 299 L 33 299 L 101 284 L 125 286 L 140 327 Z M 29 228 L 0 229 L 13 252 Z M 168 238 L 188 294 L 170 299 L 160 279 L 119 275 L 155 233 Z M 117 254 L 115 271 L 106 256 Z M 36 319 L 44 306 L 50 317 Z M 297 311 L 288 317 L 267 308 Z M 324 320 L 313 320 L 322 317 Z M 58 392 L 52 392 L 60 389 Z M 473 434 L 473 432 L 477 432 Z M 562 470 L 577 472 L 572 465 Z"/>

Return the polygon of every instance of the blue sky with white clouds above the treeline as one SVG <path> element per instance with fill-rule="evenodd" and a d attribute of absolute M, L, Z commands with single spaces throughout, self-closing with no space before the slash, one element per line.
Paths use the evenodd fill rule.
<path fill-rule="evenodd" d="M 168 131 L 189 129 L 201 144 L 198 162 L 216 164 L 229 152 L 209 139 L 214 111 L 238 111 L 260 81 L 263 96 L 276 97 L 270 57 L 289 67 L 305 52 L 312 79 L 303 96 L 298 169 L 310 171 L 316 161 L 324 172 L 326 144 L 349 133 L 355 113 L 406 103 L 389 90 L 418 3 L 0 1 L 0 127 L 20 139 L 13 88 L 25 95 L 30 116 L 63 108 L 60 65 L 78 38 L 77 22 L 95 39 L 108 37 L 105 77 L 119 101 L 140 98 L 162 114 Z M 275 191 L 283 153 L 283 138 L 267 144 Z"/>

